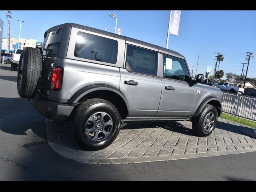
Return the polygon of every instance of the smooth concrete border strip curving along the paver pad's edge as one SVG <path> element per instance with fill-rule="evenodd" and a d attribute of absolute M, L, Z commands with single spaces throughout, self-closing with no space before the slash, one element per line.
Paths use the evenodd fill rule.
<path fill-rule="evenodd" d="M 88 164 L 129 164 L 129 163 L 168 161 L 168 160 L 239 154 L 239 153 L 256 151 L 256 148 L 251 148 L 251 149 L 228 150 L 228 151 L 208 152 L 208 153 L 177 154 L 177 155 L 134 157 L 134 158 L 109 158 L 109 159 L 88 158 L 88 157 L 80 156 L 78 154 L 74 154 L 70 152 L 68 148 L 60 146 L 55 134 L 53 122 L 51 120 L 45 119 L 45 123 L 46 123 L 48 144 L 52 148 L 52 150 L 54 150 L 60 156 L 63 156 L 65 158 L 72 159 L 77 162 L 88 163 Z"/>

